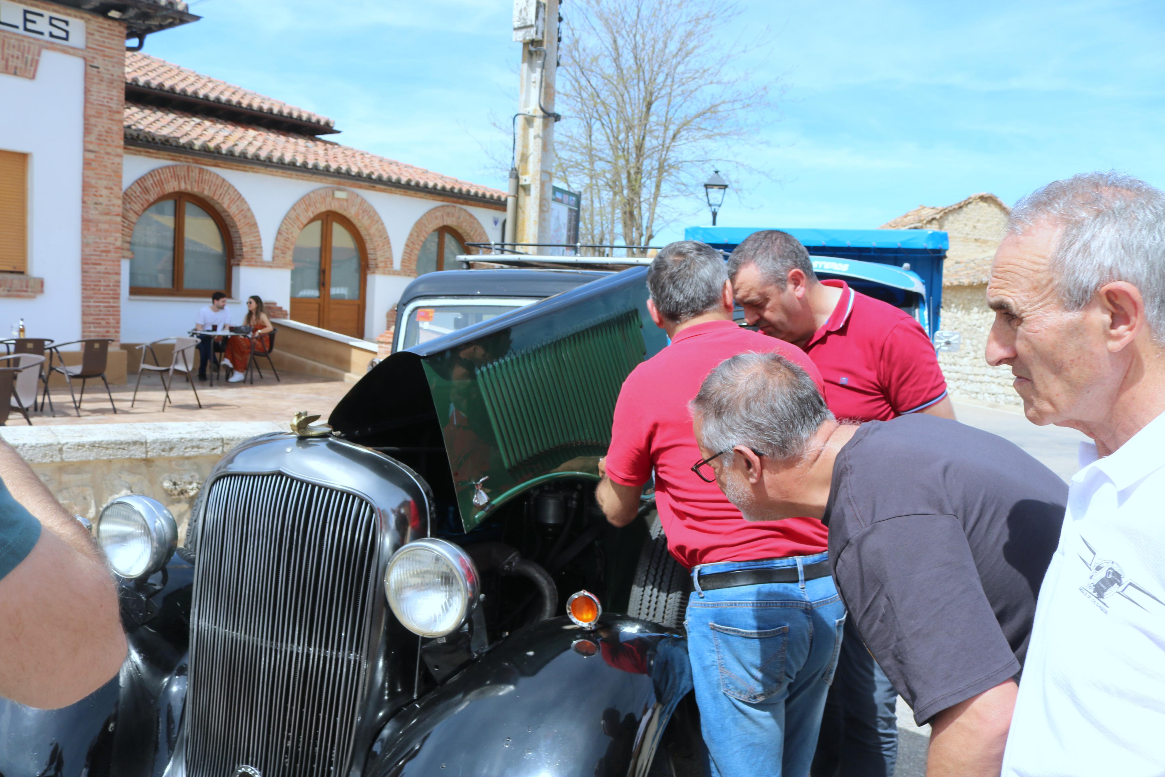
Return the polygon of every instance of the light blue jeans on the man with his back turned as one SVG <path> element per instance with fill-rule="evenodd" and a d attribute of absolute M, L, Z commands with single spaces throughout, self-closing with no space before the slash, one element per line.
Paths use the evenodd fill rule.
<path fill-rule="evenodd" d="M 826 555 L 692 570 L 687 650 L 713 777 L 809 775 L 846 609 L 824 577 L 701 591 L 715 572 L 802 568 Z"/>

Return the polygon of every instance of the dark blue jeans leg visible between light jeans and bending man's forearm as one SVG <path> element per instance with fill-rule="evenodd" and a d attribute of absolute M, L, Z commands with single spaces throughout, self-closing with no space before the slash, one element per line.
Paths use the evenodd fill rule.
<path fill-rule="evenodd" d="M 825 701 L 813 777 L 894 777 L 898 693 L 857 628 L 846 623 L 833 686 Z"/>

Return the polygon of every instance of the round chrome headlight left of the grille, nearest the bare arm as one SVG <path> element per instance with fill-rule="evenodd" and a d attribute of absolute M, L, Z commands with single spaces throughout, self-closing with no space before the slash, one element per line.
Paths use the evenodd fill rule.
<path fill-rule="evenodd" d="M 161 502 L 148 496 L 119 496 L 101 510 L 97 543 L 122 578 L 154 574 L 178 546 L 178 525 Z"/>

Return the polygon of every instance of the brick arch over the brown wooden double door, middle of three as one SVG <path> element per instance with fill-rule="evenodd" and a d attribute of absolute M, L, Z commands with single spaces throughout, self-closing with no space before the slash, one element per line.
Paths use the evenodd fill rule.
<path fill-rule="evenodd" d="M 347 197 L 337 197 L 337 192 L 344 192 Z M 333 211 L 346 217 L 360 231 L 363 239 L 365 250 L 368 256 L 367 273 L 370 275 L 390 275 L 393 273 L 393 243 L 388 239 L 388 229 L 384 221 L 367 199 L 352 191 L 339 186 L 324 186 L 310 191 L 299 198 L 288 214 L 283 217 L 283 224 L 275 234 L 275 247 L 273 255 L 275 267 L 291 267 L 291 253 L 295 250 L 295 241 L 299 238 L 299 232 L 309 221 L 320 213 Z"/>

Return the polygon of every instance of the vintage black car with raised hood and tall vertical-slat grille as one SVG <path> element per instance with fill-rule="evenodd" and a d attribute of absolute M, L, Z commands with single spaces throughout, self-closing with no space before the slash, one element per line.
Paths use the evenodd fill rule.
<path fill-rule="evenodd" d="M 0 700 L 0 774 L 701 774 L 686 578 L 649 497 L 624 529 L 593 497 L 666 342 L 644 276 L 393 354 L 330 428 L 227 454 L 176 552 L 164 508 L 107 506 L 129 657 L 71 707 Z"/>

